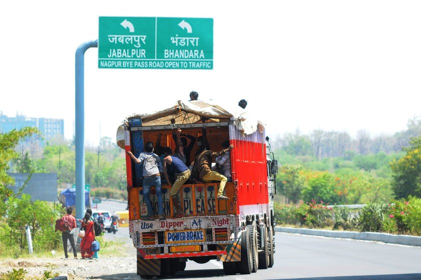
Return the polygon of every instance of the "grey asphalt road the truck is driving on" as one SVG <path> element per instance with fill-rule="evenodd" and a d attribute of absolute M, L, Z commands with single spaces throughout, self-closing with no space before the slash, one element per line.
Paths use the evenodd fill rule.
<path fill-rule="evenodd" d="M 112 202 L 117 203 L 117 202 Z M 122 203 L 120 203 L 122 204 Z M 108 201 L 103 209 L 113 211 Z M 114 205 L 115 206 L 115 205 Z M 117 205 L 118 206 L 118 205 Z M 108 208 L 105 208 L 108 207 Z M 125 206 L 124 206 L 125 207 Z M 123 238 L 128 253 L 135 256 L 128 228 L 106 238 Z M 224 275 L 222 263 L 188 261 L 185 271 L 170 279 L 316 279 L 316 280 L 412 280 L 421 279 L 421 247 L 373 241 L 326 238 L 276 232 L 275 264 L 249 275 Z M 130 275 L 134 277 L 135 275 Z"/>

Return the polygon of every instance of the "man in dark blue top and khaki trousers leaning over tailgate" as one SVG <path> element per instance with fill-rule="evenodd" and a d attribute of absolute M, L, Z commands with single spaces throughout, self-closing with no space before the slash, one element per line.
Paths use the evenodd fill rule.
<path fill-rule="evenodd" d="M 177 179 L 171 186 L 170 190 L 170 196 L 172 199 L 172 203 L 175 206 L 175 209 L 177 210 L 177 215 L 174 215 L 175 218 L 181 218 L 184 216 L 184 212 L 181 209 L 180 203 L 178 201 L 178 198 L 176 196 L 177 192 L 179 191 L 180 187 L 187 181 L 187 179 L 190 177 L 190 169 L 186 166 L 186 164 L 183 163 L 183 161 L 178 158 L 177 156 L 171 155 L 171 148 L 167 147 L 165 148 L 165 157 L 164 157 L 164 175 L 167 179 L 167 182 L 169 185 L 171 185 L 170 179 L 168 178 L 167 173 L 167 166 L 171 165 L 173 167 L 173 170 L 177 174 Z"/>

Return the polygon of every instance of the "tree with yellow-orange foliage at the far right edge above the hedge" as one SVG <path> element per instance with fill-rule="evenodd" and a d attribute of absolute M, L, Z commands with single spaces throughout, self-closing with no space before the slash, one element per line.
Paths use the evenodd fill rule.
<path fill-rule="evenodd" d="M 391 163 L 392 187 L 397 198 L 421 197 L 421 136 L 412 138 L 407 154 Z"/>

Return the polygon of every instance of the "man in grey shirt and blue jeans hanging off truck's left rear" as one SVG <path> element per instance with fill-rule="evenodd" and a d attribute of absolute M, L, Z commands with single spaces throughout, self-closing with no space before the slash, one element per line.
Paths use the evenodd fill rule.
<path fill-rule="evenodd" d="M 131 151 L 127 151 L 127 154 L 137 164 L 143 164 L 143 199 L 145 200 L 148 208 L 148 216 L 145 219 L 154 219 L 152 203 L 149 198 L 150 188 L 152 185 L 155 186 L 156 196 L 158 197 L 158 215 L 159 219 L 165 219 L 164 210 L 162 206 L 162 189 L 161 189 L 161 177 L 162 172 L 161 159 L 157 154 L 153 152 L 153 143 L 147 142 L 145 145 L 145 151 L 139 154 L 139 157 L 134 156 Z"/>

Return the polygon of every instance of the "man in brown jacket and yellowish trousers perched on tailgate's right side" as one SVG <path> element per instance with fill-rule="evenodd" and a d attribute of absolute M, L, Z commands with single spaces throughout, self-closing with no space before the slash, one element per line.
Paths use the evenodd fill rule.
<path fill-rule="evenodd" d="M 199 142 L 199 139 L 197 139 L 197 141 Z M 201 144 L 202 143 L 200 143 L 200 145 Z M 202 179 L 205 183 L 211 181 L 220 181 L 217 194 L 218 199 L 229 199 L 227 196 L 223 195 L 225 184 L 227 183 L 227 177 L 211 169 L 212 159 L 225 154 L 227 151 L 232 150 L 233 148 L 234 145 L 231 144 L 228 146 L 228 148 L 215 152 L 204 147 L 203 151 L 197 154 L 194 160 L 195 163 L 193 170 L 199 174 L 200 179 Z"/>

